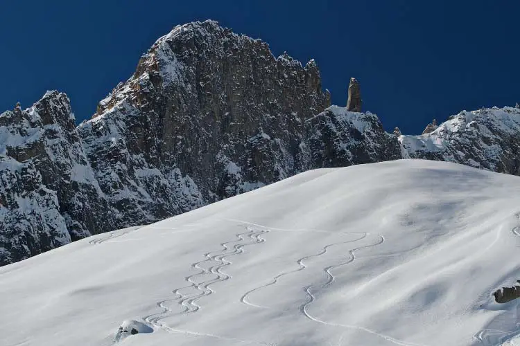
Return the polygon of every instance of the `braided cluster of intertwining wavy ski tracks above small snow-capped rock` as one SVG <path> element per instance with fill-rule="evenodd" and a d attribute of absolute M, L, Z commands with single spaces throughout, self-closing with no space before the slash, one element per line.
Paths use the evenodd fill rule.
<path fill-rule="evenodd" d="M 267 345 L 267 346 L 275 346 L 274 344 L 270 343 L 263 343 L 260 341 L 255 340 L 241 340 L 238 338 L 226 338 L 223 336 L 217 336 L 215 334 L 206 334 L 206 333 L 199 333 L 195 331 L 186 331 L 182 329 L 175 329 L 172 327 L 169 327 L 166 325 L 162 320 L 164 318 L 168 318 L 171 316 L 176 315 L 182 315 L 187 313 L 194 313 L 200 309 L 200 305 L 197 304 L 197 300 L 203 297 L 207 297 L 208 295 L 211 295 L 212 293 L 215 293 L 214 289 L 210 287 L 211 284 L 216 284 L 218 282 L 224 282 L 226 280 L 229 280 L 231 278 L 231 275 L 228 275 L 222 271 L 222 269 L 225 266 L 229 266 L 229 264 L 232 264 L 231 261 L 227 260 L 226 257 L 233 256 L 233 255 L 239 255 L 241 253 L 244 253 L 243 248 L 248 245 L 253 244 L 261 244 L 266 241 L 266 239 L 263 239 L 261 237 L 262 234 L 268 233 L 269 230 L 255 230 L 251 227 L 246 227 L 247 232 L 238 233 L 236 237 L 238 239 L 232 240 L 230 242 L 225 242 L 220 244 L 222 246 L 222 249 L 220 251 L 211 251 L 209 253 L 205 253 L 204 257 L 205 260 L 202 260 L 200 262 L 195 262 L 191 264 L 191 268 L 198 269 L 198 273 L 194 273 L 192 275 L 188 275 L 187 277 L 184 277 L 184 280 L 189 282 L 189 285 L 183 286 L 177 289 L 173 289 L 172 293 L 175 294 L 177 297 L 173 299 L 168 300 L 162 300 L 160 302 L 157 302 L 157 306 L 162 309 L 160 313 L 155 313 L 149 316 L 146 316 L 143 318 L 144 321 L 148 322 L 150 325 L 156 328 L 163 329 L 164 331 L 168 331 L 170 333 L 176 333 L 176 334 L 189 334 L 194 336 L 206 336 L 210 338 L 219 338 L 222 340 L 232 340 L 240 343 L 254 343 L 258 345 Z M 249 239 L 251 239 L 251 242 L 246 242 L 245 236 L 248 236 Z M 229 247 L 230 244 L 234 244 L 232 248 Z M 205 262 L 215 261 L 217 264 L 205 269 L 200 267 L 201 264 Z M 207 275 L 207 274 L 214 274 L 216 275 L 216 278 L 207 280 L 204 282 L 197 283 L 194 281 L 194 277 L 200 276 L 200 275 Z M 197 289 L 198 293 L 192 293 L 192 294 L 183 294 L 181 291 L 184 289 Z M 182 311 L 180 312 L 174 312 L 170 307 L 168 307 L 168 303 L 170 302 L 177 302 L 180 306 L 182 306 Z"/>

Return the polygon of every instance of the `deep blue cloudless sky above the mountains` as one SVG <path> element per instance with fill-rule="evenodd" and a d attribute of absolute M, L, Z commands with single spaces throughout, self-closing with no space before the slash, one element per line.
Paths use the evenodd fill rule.
<path fill-rule="evenodd" d="M 78 121 L 176 24 L 216 19 L 275 55 L 315 58 L 344 105 L 351 76 L 385 129 L 520 102 L 520 1 L 2 1 L 0 110 L 65 91 Z"/>

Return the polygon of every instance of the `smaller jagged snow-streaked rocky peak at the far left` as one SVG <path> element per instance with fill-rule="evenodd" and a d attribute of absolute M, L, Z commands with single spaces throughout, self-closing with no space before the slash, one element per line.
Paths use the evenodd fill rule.
<path fill-rule="evenodd" d="M 1 113 L 0 155 L 0 235 L 9 234 L 0 246 L 10 248 L 3 251 L 8 258 L 20 260 L 114 224 L 67 95 L 49 91 L 25 111 L 17 105 Z"/>

